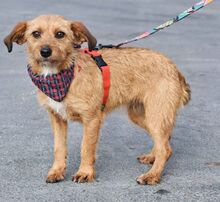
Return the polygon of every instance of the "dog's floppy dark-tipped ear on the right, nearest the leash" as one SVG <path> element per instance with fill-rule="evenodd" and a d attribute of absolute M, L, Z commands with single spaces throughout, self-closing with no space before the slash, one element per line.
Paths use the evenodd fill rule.
<path fill-rule="evenodd" d="M 87 42 L 90 51 L 95 48 L 97 40 L 85 27 L 83 23 L 81 22 L 71 23 L 71 30 L 73 31 L 73 35 L 74 35 L 74 40 L 75 40 L 74 43 L 80 45 L 83 42 Z"/>

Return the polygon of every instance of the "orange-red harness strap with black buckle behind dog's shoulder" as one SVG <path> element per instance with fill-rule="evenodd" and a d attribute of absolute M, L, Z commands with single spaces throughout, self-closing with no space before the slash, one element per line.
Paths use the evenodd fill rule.
<path fill-rule="evenodd" d="M 97 50 L 89 51 L 89 49 L 85 48 L 84 53 L 90 55 L 92 59 L 95 61 L 97 66 L 102 72 L 102 81 L 103 81 L 103 90 L 104 95 L 102 99 L 101 111 L 104 111 L 106 103 L 109 97 L 109 89 L 110 89 L 110 67 L 103 60 L 101 54 Z"/>

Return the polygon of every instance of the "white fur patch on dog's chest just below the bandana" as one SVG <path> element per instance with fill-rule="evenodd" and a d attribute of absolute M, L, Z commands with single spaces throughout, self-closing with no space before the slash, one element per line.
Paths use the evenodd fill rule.
<path fill-rule="evenodd" d="M 47 106 L 57 113 L 61 118 L 67 120 L 66 105 L 64 102 L 56 102 L 51 98 L 48 98 Z"/>

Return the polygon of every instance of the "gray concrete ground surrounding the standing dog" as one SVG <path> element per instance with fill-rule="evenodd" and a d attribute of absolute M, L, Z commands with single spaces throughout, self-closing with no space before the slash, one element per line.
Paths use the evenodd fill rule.
<path fill-rule="evenodd" d="M 7 0 L 0 6 L 0 41 L 16 22 L 57 13 L 82 20 L 102 43 L 117 43 L 159 25 L 195 1 Z M 101 131 L 97 181 L 74 184 L 82 126 L 69 128 L 65 181 L 46 184 L 53 138 L 48 117 L 36 101 L 26 72 L 25 48 L 0 49 L 0 201 L 220 201 L 220 2 L 132 46 L 161 51 L 178 65 L 192 88 L 173 131 L 174 155 L 162 181 L 140 186 L 136 176 L 149 169 L 136 157 L 152 142 L 121 109 Z"/>

